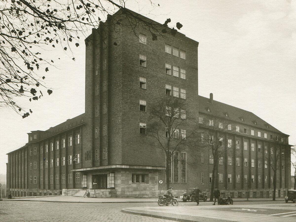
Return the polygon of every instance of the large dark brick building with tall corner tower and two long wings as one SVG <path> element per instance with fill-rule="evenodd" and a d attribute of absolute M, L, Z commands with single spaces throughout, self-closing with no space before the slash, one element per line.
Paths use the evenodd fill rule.
<path fill-rule="evenodd" d="M 250 112 L 222 106 L 213 100 L 209 104 L 208 99 L 198 96 L 198 42 L 179 32 L 171 34 L 168 28 L 164 37 L 153 41 L 155 36 L 141 22 L 135 22 L 141 20 L 162 27 L 130 10 L 120 9 L 86 38 L 85 113 L 47 131 L 28 133 L 28 143 L 8 153 L 8 192 L 14 196 L 30 196 L 59 194 L 63 190 L 63 194 L 72 195 L 87 188 L 91 194 L 95 190 L 97 197 L 157 195 L 160 189 L 165 189 L 165 183 L 158 183 L 160 179 L 165 181 L 165 154 L 143 141 L 151 139 L 146 135 L 149 107 L 170 96 L 186 101 L 186 112 L 190 111 L 195 119 L 210 116 L 208 110 L 228 112 L 230 121 L 241 130 L 231 129 L 225 138 L 240 140 L 241 144 L 247 140 L 248 146 L 254 141 L 257 151 L 255 155 L 250 147 L 242 153 L 233 149 L 228 150 L 228 156 L 234 159 L 239 154 L 242 161 L 248 152 L 249 159 L 256 161 L 256 178 L 270 176 L 270 169 L 257 167 L 259 160 L 263 160 L 262 155 L 257 155 L 258 144 L 264 147 L 269 141 L 264 136 L 251 135 L 253 128 L 262 135 L 272 133 L 284 137 L 281 146 L 285 149 L 285 162 L 281 163 L 285 164 L 279 174 L 284 182 L 279 187 L 286 189 L 290 178 L 288 135 L 272 126 L 266 128 L 267 123 Z M 135 23 L 134 29 L 130 28 Z M 245 121 L 239 122 L 239 117 Z M 253 126 L 251 121 L 258 124 Z M 244 128 L 247 133 L 242 131 Z M 177 196 L 196 184 L 200 184 L 202 191 L 209 190 L 210 154 L 200 154 L 196 149 L 196 153 L 190 155 L 178 152 L 174 156 L 170 170 Z M 245 174 L 253 175 L 250 170 L 246 173 L 240 163 L 238 167 L 225 164 L 220 169 L 219 166 L 219 172 L 241 178 Z M 249 188 L 271 189 L 271 183 L 262 184 L 250 183 Z M 234 196 L 239 196 L 245 188 L 242 182 L 237 185 L 234 178 L 229 183 L 222 181 L 221 185 L 225 192 L 235 192 Z"/>

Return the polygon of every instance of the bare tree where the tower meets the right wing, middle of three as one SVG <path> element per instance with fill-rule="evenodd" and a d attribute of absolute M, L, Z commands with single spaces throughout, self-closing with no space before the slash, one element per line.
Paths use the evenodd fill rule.
<path fill-rule="evenodd" d="M 231 149 L 231 144 L 225 144 L 223 147 L 223 138 L 226 135 L 226 130 L 230 121 L 219 115 L 211 115 L 207 119 L 200 120 L 200 149 L 209 150 L 210 161 L 213 163 L 212 183 L 210 201 L 213 200 L 215 186 L 218 185 L 218 161 L 223 157 L 228 149 Z M 226 142 L 226 141 L 225 141 Z"/>

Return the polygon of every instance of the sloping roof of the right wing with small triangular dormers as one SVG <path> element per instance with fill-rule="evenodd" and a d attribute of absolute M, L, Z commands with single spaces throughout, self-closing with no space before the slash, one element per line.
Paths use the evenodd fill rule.
<path fill-rule="evenodd" d="M 229 119 L 231 121 L 240 122 L 244 125 L 249 125 L 254 128 L 264 129 L 266 131 L 272 131 L 275 133 L 282 133 L 278 129 L 274 128 L 263 119 L 256 116 L 254 113 L 249 112 L 247 110 L 243 110 L 222 102 L 218 102 L 213 100 L 210 103 L 210 99 L 198 96 L 199 98 L 199 112 L 204 113 L 206 115 L 217 115 L 218 117 Z M 210 108 L 210 112 L 208 109 Z M 287 134 L 285 134 L 287 135 Z"/>

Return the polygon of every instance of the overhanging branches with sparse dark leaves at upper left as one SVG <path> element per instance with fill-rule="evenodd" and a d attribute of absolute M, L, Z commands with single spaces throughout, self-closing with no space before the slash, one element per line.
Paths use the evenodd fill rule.
<path fill-rule="evenodd" d="M 39 88 L 45 88 L 43 73 L 59 59 L 42 55 L 43 49 L 61 48 L 71 53 L 79 46 L 80 37 L 88 36 L 91 28 L 97 28 L 99 22 L 118 9 L 126 16 L 125 25 L 134 32 L 136 27 L 144 27 L 153 40 L 177 32 L 168 28 L 170 19 L 164 24 L 151 22 L 126 9 L 124 0 L 0 0 L 0 107 L 11 107 L 20 114 L 25 110 L 16 97 L 28 97 L 30 102 L 40 99 L 43 94 Z M 115 22 L 124 25 L 119 20 Z M 176 24 L 176 28 L 181 27 Z M 46 89 L 48 94 L 52 93 Z M 25 111 L 22 117 L 28 115 Z"/>

